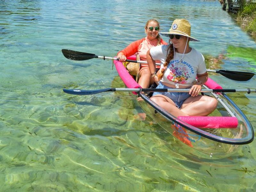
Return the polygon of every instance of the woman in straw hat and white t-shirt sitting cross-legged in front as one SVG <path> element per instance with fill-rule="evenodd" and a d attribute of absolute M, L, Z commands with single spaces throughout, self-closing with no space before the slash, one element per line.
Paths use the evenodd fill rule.
<path fill-rule="evenodd" d="M 204 56 L 189 47 L 189 41 L 199 41 L 190 36 L 190 23 L 185 19 L 176 19 L 168 36 L 170 44 L 152 47 L 147 52 L 147 61 L 151 76 L 158 84 L 157 88 L 190 88 L 189 92 L 154 92 L 151 100 L 174 116 L 207 116 L 217 107 L 217 100 L 198 95 L 208 74 Z M 161 68 L 156 75 L 156 60 Z"/>

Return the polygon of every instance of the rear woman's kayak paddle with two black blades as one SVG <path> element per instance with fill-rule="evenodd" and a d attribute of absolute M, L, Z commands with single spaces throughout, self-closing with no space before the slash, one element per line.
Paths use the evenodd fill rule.
<path fill-rule="evenodd" d="M 98 56 L 92 53 L 85 53 L 85 52 L 78 52 L 78 51 L 72 51 L 68 49 L 62 49 L 61 50 L 63 55 L 70 60 L 89 60 L 92 58 L 99 58 L 99 59 L 110 59 L 110 60 L 119 60 L 119 58 L 114 57 L 105 57 L 105 56 Z M 137 61 L 137 60 L 126 60 L 127 62 L 134 62 L 134 63 L 147 63 L 147 61 Z M 157 65 L 160 65 L 157 63 Z M 211 70 L 207 69 L 208 72 L 218 73 L 222 76 L 227 77 L 228 79 L 232 79 L 235 81 L 248 81 L 250 80 L 255 74 L 251 72 L 242 72 L 242 71 L 228 71 L 228 70 Z"/>

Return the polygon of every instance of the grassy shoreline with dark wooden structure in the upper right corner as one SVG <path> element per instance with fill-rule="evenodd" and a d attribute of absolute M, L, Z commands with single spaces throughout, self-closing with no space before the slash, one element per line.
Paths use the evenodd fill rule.
<path fill-rule="evenodd" d="M 256 0 L 219 0 L 222 9 L 235 14 L 242 30 L 256 41 Z"/>

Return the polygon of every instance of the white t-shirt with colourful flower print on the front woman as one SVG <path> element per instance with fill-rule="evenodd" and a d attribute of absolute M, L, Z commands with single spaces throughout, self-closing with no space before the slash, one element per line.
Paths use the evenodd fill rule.
<path fill-rule="evenodd" d="M 164 67 L 169 45 L 158 45 L 150 49 L 153 60 L 161 61 L 161 68 Z M 172 46 L 172 45 L 171 45 Z M 174 84 L 176 86 L 192 86 L 196 81 L 196 74 L 201 75 L 206 72 L 204 56 L 192 48 L 189 53 L 175 52 L 174 57 L 164 71 L 161 82 Z"/>

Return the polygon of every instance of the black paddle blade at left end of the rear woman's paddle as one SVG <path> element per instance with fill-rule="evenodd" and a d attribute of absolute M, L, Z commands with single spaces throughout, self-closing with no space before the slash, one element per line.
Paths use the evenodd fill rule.
<path fill-rule="evenodd" d="M 72 51 L 72 50 L 68 50 L 68 49 L 62 49 L 61 51 L 67 59 L 76 60 L 76 61 L 83 61 L 83 60 L 89 60 L 92 58 L 98 58 L 97 55 L 92 54 L 92 53 Z"/>

